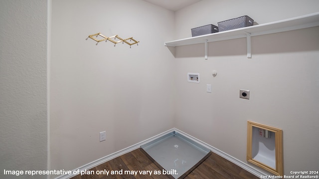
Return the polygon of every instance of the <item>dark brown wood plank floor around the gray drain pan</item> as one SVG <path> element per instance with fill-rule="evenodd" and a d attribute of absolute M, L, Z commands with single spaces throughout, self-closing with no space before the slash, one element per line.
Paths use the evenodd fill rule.
<path fill-rule="evenodd" d="M 96 171 L 161 171 L 142 151 L 136 149 L 72 179 L 169 179 L 166 175 L 97 175 Z M 171 176 L 170 176 L 171 177 Z M 211 152 L 211 155 L 184 179 L 259 179 L 237 165 Z"/>

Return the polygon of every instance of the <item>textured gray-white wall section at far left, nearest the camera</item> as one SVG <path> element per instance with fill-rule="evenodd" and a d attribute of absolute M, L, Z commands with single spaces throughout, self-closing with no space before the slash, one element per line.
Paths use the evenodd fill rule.
<path fill-rule="evenodd" d="M 45 0 L 0 0 L 1 179 L 47 169 L 46 39 Z"/>

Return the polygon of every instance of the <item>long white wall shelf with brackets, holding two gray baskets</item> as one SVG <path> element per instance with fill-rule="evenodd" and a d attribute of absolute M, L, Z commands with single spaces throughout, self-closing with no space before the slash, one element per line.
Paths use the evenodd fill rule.
<path fill-rule="evenodd" d="M 247 57 L 251 58 L 251 40 L 250 37 L 265 35 L 277 32 L 303 29 L 319 26 L 319 12 L 307 14 L 299 17 L 279 20 L 275 22 L 253 25 L 249 27 L 233 29 L 228 31 L 216 32 L 196 37 L 184 38 L 165 42 L 165 46 L 176 47 L 182 45 L 191 45 L 205 43 L 205 59 L 207 59 L 207 42 L 216 42 L 229 39 L 247 38 Z"/>

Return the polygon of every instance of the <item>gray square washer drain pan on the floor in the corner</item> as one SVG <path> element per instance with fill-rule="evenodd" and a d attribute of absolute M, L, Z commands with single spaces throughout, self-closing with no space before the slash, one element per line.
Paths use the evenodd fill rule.
<path fill-rule="evenodd" d="M 141 146 L 162 174 L 184 178 L 210 155 L 210 150 L 173 131 Z"/>

